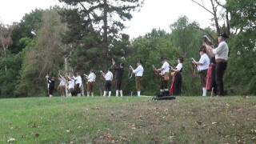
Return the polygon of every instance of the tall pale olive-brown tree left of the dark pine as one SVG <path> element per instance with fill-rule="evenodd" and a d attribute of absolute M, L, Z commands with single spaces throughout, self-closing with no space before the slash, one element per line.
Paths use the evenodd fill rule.
<path fill-rule="evenodd" d="M 42 14 L 42 27 L 38 30 L 38 37 L 26 47 L 18 93 L 43 94 L 43 88 L 46 87 L 45 75 L 56 77 L 58 70 L 64 66 L 66 47 L 62 43 L 62 35 L 65 32 L 66 26 L 56 10 L 46 10 Z"/>

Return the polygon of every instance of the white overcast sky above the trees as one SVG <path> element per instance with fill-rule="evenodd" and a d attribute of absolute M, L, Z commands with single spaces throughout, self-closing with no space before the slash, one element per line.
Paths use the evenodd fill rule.
<path fill-rule="evenodd" d="M 58 0 L 0 0 L 0 3 L 0 21 L 10 24 L 19 22 L 24 14 L 35 8 L 46 9 L 58 5 Z M 142 9 L 133 14 L 130 22 L 126 22 L 128 27 L 124 32 L 136 38 L 153 28 L 170 31 L 170 24 L 181 15 L 199 22 L 202 27 L 210 26 L 211 15 L 190 0 L 145 0 Z"/>

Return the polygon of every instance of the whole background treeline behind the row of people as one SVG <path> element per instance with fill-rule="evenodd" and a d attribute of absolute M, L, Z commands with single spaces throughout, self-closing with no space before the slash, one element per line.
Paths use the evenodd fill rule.
<path fill-rule="evenodd" d="M 99 70 L 111 65 L 111 58 L 124 62 L 124 93 L 134 90 L 134 78 L 128 78 L 129 65 L 142 60 L 145 74 L 142 94 L 158 93 L 158 78 L 152 65 L 161 66 L 161 58 L 177 65 L 178 56 L 185 58 L 182 74 L 182 94 L 199 95 L 199 78 L 193 75 L 190 58 L 199 58 L 202 36 L 207 34 L 214 42 L 218 34 L 230 35 L 230 59 L 225 75 L 228 94 L 256 94 L 256 2 L 227 0 L 225 5 L 213 1 L 222 14 L 217 18 L 213 10 L 213 26 L 202 29 L 197 22 L 181 16 L 170 23 L 170 31 L 151 30 L 148 34 L 130 39 L 122 34 L 123 22 L 139 10 L 139 0 L 122 2 L 60 0 L 69 8 L 58 6 L 49 10 L 33 10 L 20 22 L 0 25 L 0 97 L 30 97 L 46 95 L 45 75 L 58 77 L 63 73 L 87 73 L 96 70 L 100 94 L 103 80 Z M 215 12 L 215 13 L 214 13 Z M 217 19 L 216 19 L 217 18 Z M 221 22 L 223 25 L 221 26 Z M 56 83 L 58 86 L 58 82 Z"/>

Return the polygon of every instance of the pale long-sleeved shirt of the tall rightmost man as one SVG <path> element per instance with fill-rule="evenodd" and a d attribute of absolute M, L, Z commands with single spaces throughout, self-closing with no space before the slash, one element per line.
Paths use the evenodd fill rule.
<path fill-rule="evenodd" d="M 225 41 L 222 41 L 218 44 L 218 47 L 213 50 L 215 59 L 228 59 L 229 47 Z"/>

